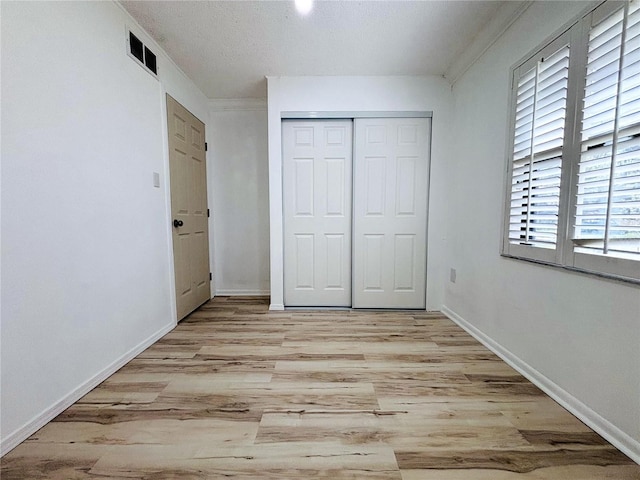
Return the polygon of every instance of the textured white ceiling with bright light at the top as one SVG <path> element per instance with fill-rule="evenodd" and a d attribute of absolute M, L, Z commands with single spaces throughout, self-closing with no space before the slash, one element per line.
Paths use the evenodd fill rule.
<path fill-rule="evenodd" d="M 444 75 L 502 1 L 121 1 L 209 98 L 265 75 Z"/>

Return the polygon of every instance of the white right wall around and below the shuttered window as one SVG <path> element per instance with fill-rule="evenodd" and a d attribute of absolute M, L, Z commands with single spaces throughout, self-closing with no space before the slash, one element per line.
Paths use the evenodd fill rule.
<path fill-rule="evenodd" d="M 499 256 L 509 69 L 583 2 L 534 2 L 454 85 L 445 311 L 640 460 L 640 288 Z"/>

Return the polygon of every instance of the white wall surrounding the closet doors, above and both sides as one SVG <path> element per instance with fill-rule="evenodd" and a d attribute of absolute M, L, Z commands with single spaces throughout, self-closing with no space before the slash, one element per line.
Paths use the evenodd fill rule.
<path fill-rule="evenodd" d="M 451 86 L 441 77 L 268 77 L 271 308 L 283 308 L 283 111 L 433 111 L 427 309 L 442 305 Z"/>

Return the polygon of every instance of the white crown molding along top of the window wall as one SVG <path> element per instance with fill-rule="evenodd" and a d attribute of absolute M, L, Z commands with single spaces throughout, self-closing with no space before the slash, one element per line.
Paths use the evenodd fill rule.
<path fill-rule="evenodd" d="M 534 2 L 505 2 L 495 17 L 447 69 L 444 77 L 454 85 Z"/>

